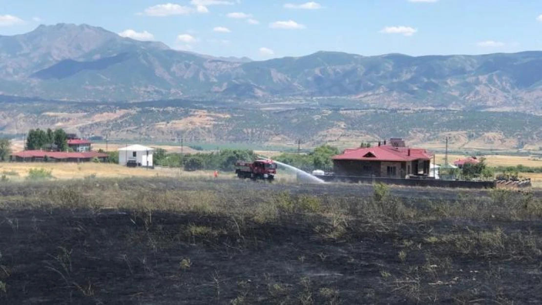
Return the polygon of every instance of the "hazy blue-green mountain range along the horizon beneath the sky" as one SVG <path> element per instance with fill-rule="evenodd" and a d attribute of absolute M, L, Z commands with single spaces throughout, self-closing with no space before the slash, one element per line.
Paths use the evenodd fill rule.
<path fill-rule="evenodd" d="M 344 97 L 366 105 L 540 113 L 542 52 L 253 61 L 173 50 L 91 25 L 0 36 L 0 94 L 74 101 Z"/>

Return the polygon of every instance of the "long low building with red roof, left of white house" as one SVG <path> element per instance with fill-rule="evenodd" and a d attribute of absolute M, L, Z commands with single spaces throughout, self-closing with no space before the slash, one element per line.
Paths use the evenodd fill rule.
<path fill-rule="evenodd" d="M 99 152 L 50 152 L 22 151 L 11 155 L 11 161 L 16 162 L 90 162 L 94 158 L 105 162 L 109 155 Z"/>

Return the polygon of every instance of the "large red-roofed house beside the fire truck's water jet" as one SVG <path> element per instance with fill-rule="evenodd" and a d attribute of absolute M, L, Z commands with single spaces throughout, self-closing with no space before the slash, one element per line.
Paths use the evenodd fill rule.
<path fill-rule="evenodd" d="M 332 159 L 337 176 L 407 178 L 428 177 L 432 157 L 423 148 L 406 147 L 402 139 L 392 138 L 390 144 L 347 149 Z"/>

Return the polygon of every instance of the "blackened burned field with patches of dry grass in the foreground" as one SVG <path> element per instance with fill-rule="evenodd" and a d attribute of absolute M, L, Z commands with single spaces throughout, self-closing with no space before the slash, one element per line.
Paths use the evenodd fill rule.
<path fill-rule="evenodd" d="M 536 192 L 156 178 L 0 194 L 5 304 L 542 298 Z"/>

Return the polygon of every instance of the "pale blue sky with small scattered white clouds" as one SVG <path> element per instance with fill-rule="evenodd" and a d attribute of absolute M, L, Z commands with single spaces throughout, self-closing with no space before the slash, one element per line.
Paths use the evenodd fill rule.
<path fill-rule="evenodd" d="M 255 60 L 542 49 L 540 0 L 0 0 L 0 35 L 61 22 Z"/>

